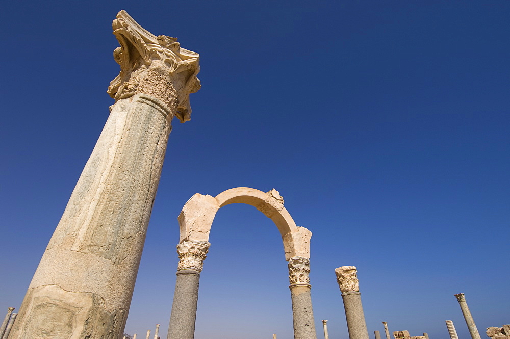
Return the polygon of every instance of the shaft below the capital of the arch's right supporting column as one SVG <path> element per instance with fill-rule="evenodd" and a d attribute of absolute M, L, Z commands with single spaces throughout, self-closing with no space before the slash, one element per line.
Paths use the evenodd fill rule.
<path fill-rule="evenodd" d="M 317 339 L 311 287 L 308 283 L 295 283 L 289 286 L 292 299 L 294 339 Z"/>

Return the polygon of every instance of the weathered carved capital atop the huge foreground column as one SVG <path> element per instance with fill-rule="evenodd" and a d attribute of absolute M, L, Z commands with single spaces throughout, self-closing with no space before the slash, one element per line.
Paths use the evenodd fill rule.
<path fill-rule="evenodd" d="M 155 36 L 124 10 L 113 20 L 120 47 L 113 52 L 120 74 L 108 94 L 115 100 L 145 93 L 163 101 L 181 122 L 190 120 L 189 94 L 200 89 L 198 54 L 181 48 L 177 38 Z"/>

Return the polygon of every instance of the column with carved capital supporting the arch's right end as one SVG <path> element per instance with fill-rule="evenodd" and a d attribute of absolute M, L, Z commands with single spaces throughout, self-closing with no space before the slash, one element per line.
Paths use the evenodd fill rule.
<path fill-rule="evenodd" d="M 314 311 L 310 294 L 310 259 L 293 256 L 289 259 L 289 281 L 292 299 L 294 339 L 317 339 Z"/>

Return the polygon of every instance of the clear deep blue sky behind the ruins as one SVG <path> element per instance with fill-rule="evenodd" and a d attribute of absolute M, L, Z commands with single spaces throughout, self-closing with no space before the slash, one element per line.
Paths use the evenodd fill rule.
<path fill-rule="evenodd" d="M 19 307 L 112 105 L 111 22 L 200 54 L 176 119 L 126 332 L 166 337 L 194 194 L 276 188 L 313 232 L 316 327 L 347 329 L 334 269 L 358 267 L 371 337 L 446 339 L 453 296 L 478 329 L 510 319 L 510 2 L 3 2 L 0 312 Z M 252 241 L 246 241 L 252 239 Z M 196 339 L 292 338 L 276 227 L 229 205 L 213 224 Z"/>

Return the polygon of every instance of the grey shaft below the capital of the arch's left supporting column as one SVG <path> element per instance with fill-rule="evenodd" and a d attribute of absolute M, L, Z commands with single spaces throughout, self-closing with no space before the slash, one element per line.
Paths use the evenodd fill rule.
<path fill-rule="evenodd" d="M 168 339 L 193 339 L 200 272 L 179 270 L 175 281 Z"/>

